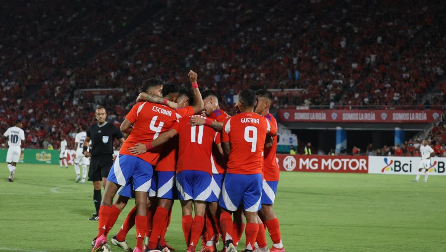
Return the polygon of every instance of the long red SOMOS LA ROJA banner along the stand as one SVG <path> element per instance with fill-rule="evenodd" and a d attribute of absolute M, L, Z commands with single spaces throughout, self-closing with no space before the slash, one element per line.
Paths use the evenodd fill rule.
<path fill-rule="evenodd" d="M 432 123 L 439 110 L 296 110 L 280 109 L 282 122 L 307 123 Z"/>

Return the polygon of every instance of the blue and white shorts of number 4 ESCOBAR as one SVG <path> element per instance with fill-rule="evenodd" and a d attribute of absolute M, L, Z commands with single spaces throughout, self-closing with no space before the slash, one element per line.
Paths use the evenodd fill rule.
<path fill-rule="evenodd" d="M 130 155 L 119 155 L 111 166 L 108 181 L 120 186 L 131 182 L 133 191 L 148 192 L 153 168 L 146 161 Z"/>

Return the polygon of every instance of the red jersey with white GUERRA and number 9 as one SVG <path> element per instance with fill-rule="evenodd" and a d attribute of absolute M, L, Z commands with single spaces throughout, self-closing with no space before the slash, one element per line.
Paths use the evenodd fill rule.
<path fill-rule="evenodd" d="M 263 148 L 267 134 L 275 135 L 268 119 L 256 113 L 240 113 L 223 124 L 223 142 L 230 142 L 227 172 L 262 174 Z"/>

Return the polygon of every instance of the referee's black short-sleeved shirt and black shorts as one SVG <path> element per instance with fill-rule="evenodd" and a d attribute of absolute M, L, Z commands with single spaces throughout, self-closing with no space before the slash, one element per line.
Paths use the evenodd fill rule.
<path fill-rule="evenodd" d="M 92 125 L 87 129 L 87 137 L 91 139 L 91 161 L 88 180 L 102 181 L 108 177 L 113 165 L 113 138 L 123 138 L 121 130 L 111 123 Z"/>

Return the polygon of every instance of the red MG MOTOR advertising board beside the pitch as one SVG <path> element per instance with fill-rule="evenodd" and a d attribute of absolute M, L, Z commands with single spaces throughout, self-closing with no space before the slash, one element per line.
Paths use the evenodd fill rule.
<path fill-rule="evenodd" d="M 280 170 L 313 172 L 353 172 L 367 173 L 366 156 L 320 156 L 278 154 Z"/>

